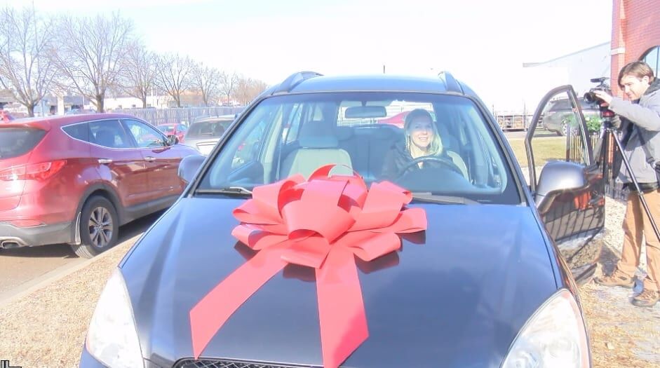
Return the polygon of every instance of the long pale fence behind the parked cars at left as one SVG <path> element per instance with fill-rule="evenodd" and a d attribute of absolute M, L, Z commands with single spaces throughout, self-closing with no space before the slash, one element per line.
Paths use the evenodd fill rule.
<path fill-rule="evenodd" d="M 129 114 L 141 118 L 152 125 L 182 123 L 189 125 L 206 116 L 234 115 L 245 107 L 180 107 L 171 109 L 119 109 L 112 112 Z"/>

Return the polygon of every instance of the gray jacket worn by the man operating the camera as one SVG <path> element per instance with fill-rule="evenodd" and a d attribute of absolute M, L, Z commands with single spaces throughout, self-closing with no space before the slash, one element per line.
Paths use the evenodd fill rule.
<path fill-rule="evenodd" d="M 660 134 L 658 134 L 660 132 L 660 79 L 654 79 L 638 101 L 630 102 L 613 97 L 610 109 L 623 118 L 621 119 L 623 132 L 628 131 L 631 123 L 637 125 L 630 127 L 632 128 L 631 135 L 624 147 L 624 154 L 631 163 L 635 179 L 640 183 L 657 182 L 654 166 L 655 163 L 660 162 Z M 646 142 L 647 150 L 642 145 L 642 141 Z M 619 179 L 624 183 L 632 182 L 625 165 L 621 165 Z"/>

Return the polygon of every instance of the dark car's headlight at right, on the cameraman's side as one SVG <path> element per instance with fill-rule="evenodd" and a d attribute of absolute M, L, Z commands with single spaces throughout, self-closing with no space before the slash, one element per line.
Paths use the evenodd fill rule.
<path fill-rule="evenodd" d="M 561 289 L 513 341 L 502 368 L 590 366 L 584 320 L 573 295 Z"/>

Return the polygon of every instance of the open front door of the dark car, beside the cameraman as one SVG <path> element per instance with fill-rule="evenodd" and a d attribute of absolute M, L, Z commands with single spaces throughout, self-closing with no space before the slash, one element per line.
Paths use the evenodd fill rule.
<path fill-rule="evenodd" d="M 569 104 L 570 109 L 557 109 L 558 104 Z M 562 135 L 558 136 L 557 127 Z M 568 161 L 584 167 L 586 184 L 581 189 L 560 193 L 550 205 L 539 207 L 548 233 L 577 282 L 591 278 L 602 248 L 605 180 L 601 141 L 600 116 L 585 119 L 572 86 L 560 86 L 543 97 L 525 137 L 528 184 L 534 196 L 546 163 Z"/>

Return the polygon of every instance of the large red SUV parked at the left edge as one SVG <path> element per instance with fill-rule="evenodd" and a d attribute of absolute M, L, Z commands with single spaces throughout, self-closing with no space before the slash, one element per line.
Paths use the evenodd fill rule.
<path fill-rule="evenodd" d="M 86 114 L 0 124 L 0 248 L 114 246 L 119 226 L 169 207 L 196 154 L 133 116 Z"/>

